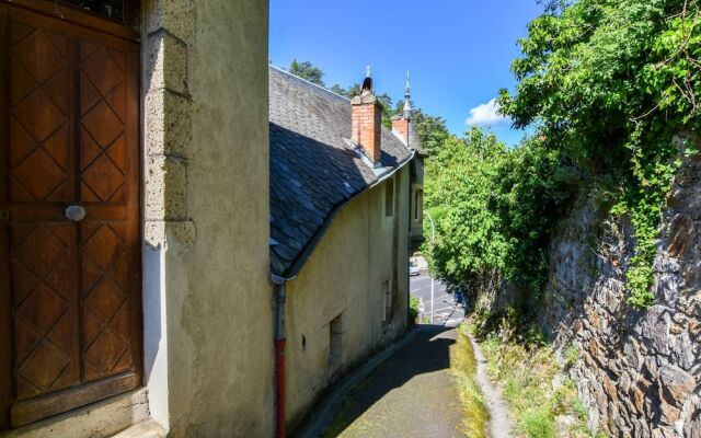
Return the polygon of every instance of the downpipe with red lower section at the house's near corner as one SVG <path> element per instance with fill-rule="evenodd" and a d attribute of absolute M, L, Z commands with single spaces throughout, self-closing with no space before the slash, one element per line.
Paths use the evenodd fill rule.
<path fill-rule="evenodd" d="M 275 285 L 275 436 L 285 438 L 285 283 L 286 279 L 272 276 Z"/>

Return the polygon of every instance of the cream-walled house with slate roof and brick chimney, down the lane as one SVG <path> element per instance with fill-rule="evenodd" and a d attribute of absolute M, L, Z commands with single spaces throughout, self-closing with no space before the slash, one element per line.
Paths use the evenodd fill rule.
<path fill-rule="evenodd" d="M 278 407 L 295 426 L 340 374 L 406 330 L 416 150 L 407 130 L 382 126 L 370 78 L 349 101 L 271 67 L 269 99 L 271 257 L 287 298 Z"/>

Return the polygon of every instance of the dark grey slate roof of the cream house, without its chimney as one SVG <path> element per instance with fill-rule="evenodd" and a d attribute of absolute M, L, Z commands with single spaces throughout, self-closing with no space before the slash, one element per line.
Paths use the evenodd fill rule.
<path fill-rule="evenodd" d="M 349 142 L 350 101 L 275 67 L 269 69 L 271 264 L 296 274 L 338 207 L 380 176 Z M 412 151 L 382 128 L 382 166 Z"/>

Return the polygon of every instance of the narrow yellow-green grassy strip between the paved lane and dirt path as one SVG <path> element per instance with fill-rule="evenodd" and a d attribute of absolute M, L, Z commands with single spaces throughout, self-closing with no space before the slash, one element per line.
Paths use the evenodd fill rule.
<path fill-rule="evenodd" d="M 458 344 L 450 368 L 458 383 L 458 394 L 464 411 L 464 433 L 470 438 L 486 438 L 490 414 L 476 382 L 478 364 L 472 343 L 463 328 L 458 330 Z"/>

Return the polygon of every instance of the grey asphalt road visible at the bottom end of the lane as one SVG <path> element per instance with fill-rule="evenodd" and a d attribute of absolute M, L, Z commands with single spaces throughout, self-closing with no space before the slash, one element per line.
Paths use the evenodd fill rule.
<path fill-rule="evenodd" d="M 420 320 L 423 323 L 423 316 L 430 318 L 430 276 L 418 275 L 411 277 L 409 281 L 409 291 L 412 297 L 418 298 L 423 306 Z M 434 281 L 434 324 L 443 324 L 447 326 L 458 325 L 464 318 L 464 311 L 460 307 L 456 307 L 452 302 L 452 293 L 446 291 L 446 285 L 439 280 Z"/>

